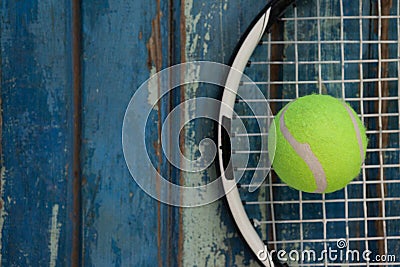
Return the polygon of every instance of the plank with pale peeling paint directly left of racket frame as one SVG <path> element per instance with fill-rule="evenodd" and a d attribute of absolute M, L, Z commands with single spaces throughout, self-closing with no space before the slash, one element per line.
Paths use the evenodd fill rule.
<path fill-rule="evenodd" d="M 210 60 L 227 64 L 237 42 L 265 2 L 193 1 L 182 2 L 185 61 Z M 209 84 L 191 84 L 182 90 L 183 99 L 220 97 L 220 89 Z M 201 107 L 199 107 L 201 108 Z M 207 107 L 204 107 L 207 108 Z M 190 108 L 189 108 L 190 109 Z M 192 110 L 192 115 L 201 110 Z M 185 127 L 185 155 L 195 159 L 199 141 L 213 137 L 216 124 L 196 120 Z M 215 136 L 214 136 L 215 137 Z M 215 139 L 214 139 L 215 140 Z M 201 173 L 186 173 L 186 183 L 206 183 L 215 179 L 215 167 Z M 220 199 L 183 213 L 183 266 L 257 266 L 230 216 L 227 203 Z"/>

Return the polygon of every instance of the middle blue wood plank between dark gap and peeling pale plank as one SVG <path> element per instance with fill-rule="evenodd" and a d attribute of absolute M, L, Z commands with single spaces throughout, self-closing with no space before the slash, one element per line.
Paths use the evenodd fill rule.
<path fill-rule="evenodd" d="M 83 260 L 88 266 L 175 265 L 176 209 L 154 200 L 133 181 L 121 140 L 129 99 L 170 64 L 169 12 L 168 1 L 82 3 Z M 146 100 L 142 104 L 148 106 Z M 168 98 L 163 99 L 152 113 L 155 123 L 165 118 L 168 105 Z M 164 157 L 158 156 L 157 127 L 146 138 L 155 167 L 168 172 Z M 147 155 L 136 157 L 140 162 Z M 155 179 L 145 165 L 136 174 Z"/>

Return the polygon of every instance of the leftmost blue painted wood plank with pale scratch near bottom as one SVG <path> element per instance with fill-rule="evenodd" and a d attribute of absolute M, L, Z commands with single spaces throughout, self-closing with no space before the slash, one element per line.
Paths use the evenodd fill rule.
<path fill-rule="evenodd" d="M 1 3 L 3 266 L 71 263 L 69 1 Z"/>

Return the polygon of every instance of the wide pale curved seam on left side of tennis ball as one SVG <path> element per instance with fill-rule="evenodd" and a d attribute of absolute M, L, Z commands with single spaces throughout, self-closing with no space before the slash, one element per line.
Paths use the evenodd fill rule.
<path fill-rule="evenodd" d="M 289 106 L 289 105 L 288 105 Z M 322 167 L 321 162 L 319 162 L 318 158 L 315 156 L 314 152 L 311 150 L 311 147 L 307 143 L 298 142 L 294 136 L 290 133 L 289 129 L 285 124 L 285 113 L 288 108 L 286 106 L 279 117 L 279 128 L 286 141 L 290 144 L 290 146 L 294 149 L 294 151 L 304 160 L 307 164 L 308 168 L 313 174 L 317 189 L 315 193 L 323 193 L 327 186 L 327 179 L 325 171 Z"/>

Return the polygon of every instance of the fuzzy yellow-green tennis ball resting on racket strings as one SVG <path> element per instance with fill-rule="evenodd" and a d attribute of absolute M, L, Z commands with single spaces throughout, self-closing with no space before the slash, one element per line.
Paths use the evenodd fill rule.
<path fill-rule="evenodd" d="M 276 115 L 271 127 L 272 166 L 289 186 L 330 193 L 360 173 L 367 136 L 357 114 L 344 101 L 328 95 L 300 97 Z"/>

